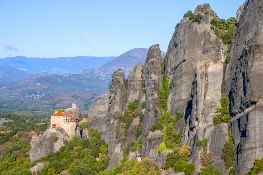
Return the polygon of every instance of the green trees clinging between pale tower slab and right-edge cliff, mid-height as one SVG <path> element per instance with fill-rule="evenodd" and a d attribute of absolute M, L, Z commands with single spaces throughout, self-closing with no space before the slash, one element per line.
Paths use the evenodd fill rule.
<path fill-rule="evenodd" d="M 230 116 L 230 100 L 228 97 L 226 97 L 225 93 L 221 94 L 220 98 L 220 103 L 221 103 L 221 108 L 217 108 L 216 113 L 221 113 L 218 114 L 216 117 L 213 118 L 213 123 L 214 125 L 218 125 L 220 123 L 228 123 L 231 120 Z"/>

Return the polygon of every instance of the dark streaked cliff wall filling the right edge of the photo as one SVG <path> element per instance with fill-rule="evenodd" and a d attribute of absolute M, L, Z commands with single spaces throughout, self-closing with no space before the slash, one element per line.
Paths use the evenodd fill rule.
<path fill-rule="evenodd" d="M 247 0 L 238 10 L 238 22 L 230 46 L 231 62 L 225 70 L 223 91 L 230 95 L 231 121 L 238 174 L 248 172 L 255 159 L 263 158 L 262 105 L 262 5 Z"/>

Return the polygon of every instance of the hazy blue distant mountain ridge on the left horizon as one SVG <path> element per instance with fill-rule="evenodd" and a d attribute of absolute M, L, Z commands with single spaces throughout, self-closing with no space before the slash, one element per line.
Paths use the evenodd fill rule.
<path fill-rule="evenodd" d="M 102 66 L 116 57 L 60 57 L 60 58 L 28 58 L 24 56 L 0 59 L 0 66 L 13 67 L 28 73 L 47 72 L 65 75 Z"/>

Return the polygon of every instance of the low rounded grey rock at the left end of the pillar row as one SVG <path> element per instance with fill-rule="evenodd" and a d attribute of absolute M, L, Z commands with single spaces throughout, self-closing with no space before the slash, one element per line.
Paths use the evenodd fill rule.
<path fill-rule="evenodd" d="M 105 96 L 91 104 L 87 121 L 89 122 L 94 116 L 105 117 L 109 108 L 109 100 L 109 96 Z"/>

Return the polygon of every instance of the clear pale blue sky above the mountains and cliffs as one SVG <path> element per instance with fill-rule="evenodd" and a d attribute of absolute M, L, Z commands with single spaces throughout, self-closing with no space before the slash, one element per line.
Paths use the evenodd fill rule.
<path fill-rule="evenodd" d="M 236 17 L 243 2 L 0 0 L 0 58 L 119 56 L 154 44 L 166 52 L 188 10 L 209 3 L 220 18 L 228 19 Z"/>

